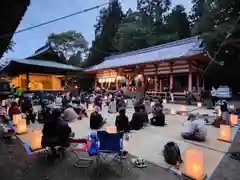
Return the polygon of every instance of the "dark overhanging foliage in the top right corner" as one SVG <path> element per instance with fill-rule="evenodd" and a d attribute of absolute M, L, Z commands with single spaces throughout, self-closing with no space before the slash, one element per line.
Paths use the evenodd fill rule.
<path fill-rule="evenodd" d="M 240 12 L 240 1 L 212 0 L 205 1 L 202 6 L 202 15 L 199 21 L 195 23 L 192 32 L 202 35 L 211 52 L 216 52 L 228 36 L 218 57 L 218 59 L 224 59 L 225 56 L 229 56 L 226 52 L 232 52 L 233 49 L 236 49 L 236 43 L 232 42 L 240 37 L 239 22 L 235 23 Z M 229 32 L 230 30 L 232 32 Z"/>

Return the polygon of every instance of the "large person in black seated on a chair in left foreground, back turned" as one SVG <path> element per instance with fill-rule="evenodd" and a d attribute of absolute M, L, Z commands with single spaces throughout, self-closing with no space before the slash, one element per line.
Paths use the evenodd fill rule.
<path fill-rule="evenodd" d="M 62 149 L 70 146 L 69 137 L 73 137 L 68 123 L 61 119 L 61 110 L 56 108 L 52 111 L 52 118 L 44 122 L 42 147 L 50 147 L 52 156 L 57 157 L 56 146 Z"/>

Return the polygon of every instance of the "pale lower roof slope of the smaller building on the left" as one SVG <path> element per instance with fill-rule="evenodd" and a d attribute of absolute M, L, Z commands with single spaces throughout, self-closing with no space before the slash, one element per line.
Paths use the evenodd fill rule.
<path fill-rule="evenodd" d="M 50 67 L 50 68 L 58 68 L 58 69 L 66 69 L 66 70 L 81 70 L 81 68 L 76 66 L 61 64 L 53 61 L 44 61 L 44 60 L 35 60 L 35 59 L 17 59 L 17 60 L 14 59 L 11 61 L 16 63 L 21 63 L 21 64 L 41 66 L 41 67 Z M 11 63 L 11 61 L 9 63 Z"/>

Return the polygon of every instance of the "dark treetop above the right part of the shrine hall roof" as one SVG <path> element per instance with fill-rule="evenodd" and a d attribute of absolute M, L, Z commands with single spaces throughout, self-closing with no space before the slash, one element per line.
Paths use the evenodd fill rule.
<path fill-rule="evenodd" d="M 190 23 L 182 5 L 177 5 L 166 17 L 166 29 L 171 34 L 177 34 L 181 39 L 190 36 Z"/>

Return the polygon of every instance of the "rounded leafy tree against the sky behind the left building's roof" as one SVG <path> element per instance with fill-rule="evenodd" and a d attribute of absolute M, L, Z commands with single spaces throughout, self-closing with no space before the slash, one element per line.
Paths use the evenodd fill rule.
<path fill-rule="evenodd" d="M 88 43 L 81 33 L 67 31 L 59 34 L 51 34 L 48 41 L 53 49 L 59 54 L 63 54 L 66 60 L 77 53 L 84 54 L 88 50 Z"/>

